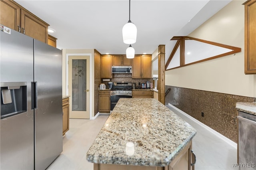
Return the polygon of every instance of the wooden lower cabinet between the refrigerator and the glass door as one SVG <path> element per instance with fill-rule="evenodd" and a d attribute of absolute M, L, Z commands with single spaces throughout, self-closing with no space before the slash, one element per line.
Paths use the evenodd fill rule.
<path fill-rule="evenodd" d="M 69 97 L 62 99 L 62 135 L 69 130 Z"/>

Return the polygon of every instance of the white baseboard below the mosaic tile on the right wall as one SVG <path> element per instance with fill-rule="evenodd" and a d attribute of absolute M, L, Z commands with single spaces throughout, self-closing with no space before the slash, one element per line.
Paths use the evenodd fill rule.
<path fill-rule="evenodd" d="M 178 109 L 177 107 L 171 105 L 170 103 L 168 103 L 168 105 L 170 107 L 172 107 L 173 109 L 175 109 L 177 112 L 181 113 L 182 115 L 188 117 L 189 119 L 191 119 L 192 121 L 194 121 L 195 123 L 197 123 L 198 125 L 206 128 L 208 131 L 212 132 L 213 134 L 215 134 L 216 136 L 218 136 L 219 138 L 221 138 L 222 140 L 224 140 L 225 142 L 227 142 L 228 144 L 230 144 L 231 146 L 233 146 L 234 148 L 237 148 L 237 143 L 230 140 L 229 138 L 227 138 L 226 136 L 220 134 L 219 132 L 217 132 L 216 130 L 208 127 L 207 125 L 205 125 L 204 123 L 198 121 L 197 119 L 195 119 L 194 117 L 188 115 L 187 113 L 185 113 L 184 111 Z"/>

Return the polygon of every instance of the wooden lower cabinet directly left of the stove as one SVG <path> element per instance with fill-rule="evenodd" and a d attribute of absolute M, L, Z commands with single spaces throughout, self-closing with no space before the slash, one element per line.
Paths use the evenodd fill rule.
<path fill-rule="evenodd" d="M 99 91 L 98 107 L 100 113 L 110 113 L 110 91 Z"/>

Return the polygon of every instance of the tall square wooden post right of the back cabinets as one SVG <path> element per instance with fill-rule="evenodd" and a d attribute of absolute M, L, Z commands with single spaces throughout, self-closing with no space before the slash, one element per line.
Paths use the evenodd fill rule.
<path fill-rule="evenodd" d="M 165 105 L 165 45 L 158 45 L 158 101 Z"/>

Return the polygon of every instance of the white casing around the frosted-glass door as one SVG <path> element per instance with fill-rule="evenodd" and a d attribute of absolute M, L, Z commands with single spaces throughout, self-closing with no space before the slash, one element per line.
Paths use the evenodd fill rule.
<path fill-rule="evenodd" d="M 66 94 L 68 95 L 68 56 L 69 55 L 89 55 L 90 56 L 90 119 L 92 119 L 93 115 L 92 115 L 92 85 L 94 85 L 94 83 L 92 82 L 92 53 L 66 53 Z"/>

